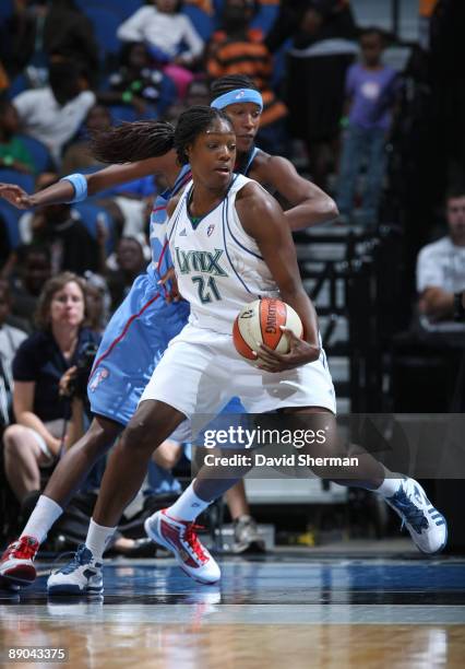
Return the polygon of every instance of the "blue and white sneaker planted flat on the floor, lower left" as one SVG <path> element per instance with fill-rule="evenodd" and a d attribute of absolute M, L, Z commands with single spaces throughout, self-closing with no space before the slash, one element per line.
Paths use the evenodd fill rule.
<path fill-rule="evenodd" d="M 50 574 L 47 590 L 49 595 L 99 595 L 104 591 L 103 564 L 82 543 L 71 562 Z"/>

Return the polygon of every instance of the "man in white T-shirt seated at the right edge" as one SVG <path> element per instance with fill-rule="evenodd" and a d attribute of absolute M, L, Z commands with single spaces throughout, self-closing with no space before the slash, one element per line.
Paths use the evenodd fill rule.
<path fill-rule="evenodd" d="M 418 254 L 418 308 L 427 328 L 465 320 L 465 188 L 446 198 L 448 235 Z"/>

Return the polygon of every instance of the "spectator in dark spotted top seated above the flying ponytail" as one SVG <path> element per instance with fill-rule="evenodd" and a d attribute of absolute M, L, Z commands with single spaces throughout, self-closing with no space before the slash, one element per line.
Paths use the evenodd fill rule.
<path fill-rule="evenodd" d="M 150 50 L 142 42 L 128 42 L 120 54 L 120 67 L 108 78 L 108 91 L 98 99 L 106 105 L 129 105 L 141 116 L 160 115 L 175 102 L 172 80 L 154 64 Z"/>

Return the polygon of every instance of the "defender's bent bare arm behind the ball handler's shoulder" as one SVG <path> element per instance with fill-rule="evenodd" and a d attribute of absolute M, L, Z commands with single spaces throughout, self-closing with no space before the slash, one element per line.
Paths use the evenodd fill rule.
<path fill-rule="evenodd" d="M 325 223 L 338 215 L 335 201 L 303 179 L 287 159 L 259 153 L 253 161 L 251 177 L 272 186 L 287 200 L 290 208 L 284 215 L 293 231 Z"/>

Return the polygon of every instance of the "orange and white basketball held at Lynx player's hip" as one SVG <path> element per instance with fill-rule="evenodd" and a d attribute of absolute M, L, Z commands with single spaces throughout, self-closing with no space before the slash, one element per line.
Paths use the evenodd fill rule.
<path fill-rule="evenodd" d="M 251 363 L 257 362 L 253 351 L 260 343 L 278 353 L 289 351 L 289 340 L 281 326 L 293 330 L 296 337 L 303 334 L 302 321 L 285 302 L 263 297 L 246 304 L 234 321 L 233 341 L 237 352 Z"/>

